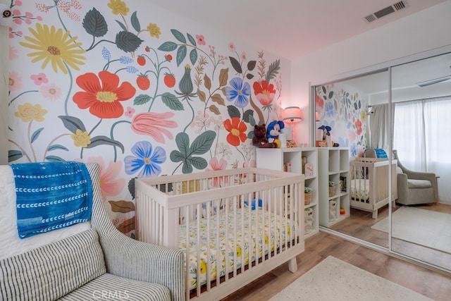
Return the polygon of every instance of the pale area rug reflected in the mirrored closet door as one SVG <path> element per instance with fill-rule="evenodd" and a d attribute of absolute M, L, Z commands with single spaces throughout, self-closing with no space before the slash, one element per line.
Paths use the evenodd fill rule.
<path fill-rule="evenodd" d="M 371 228 L 388 233 L 388 218 Z M 401 207 L 393 212 L 392 235 L 400 240 L 451 254 L 451 214 Z"/>

